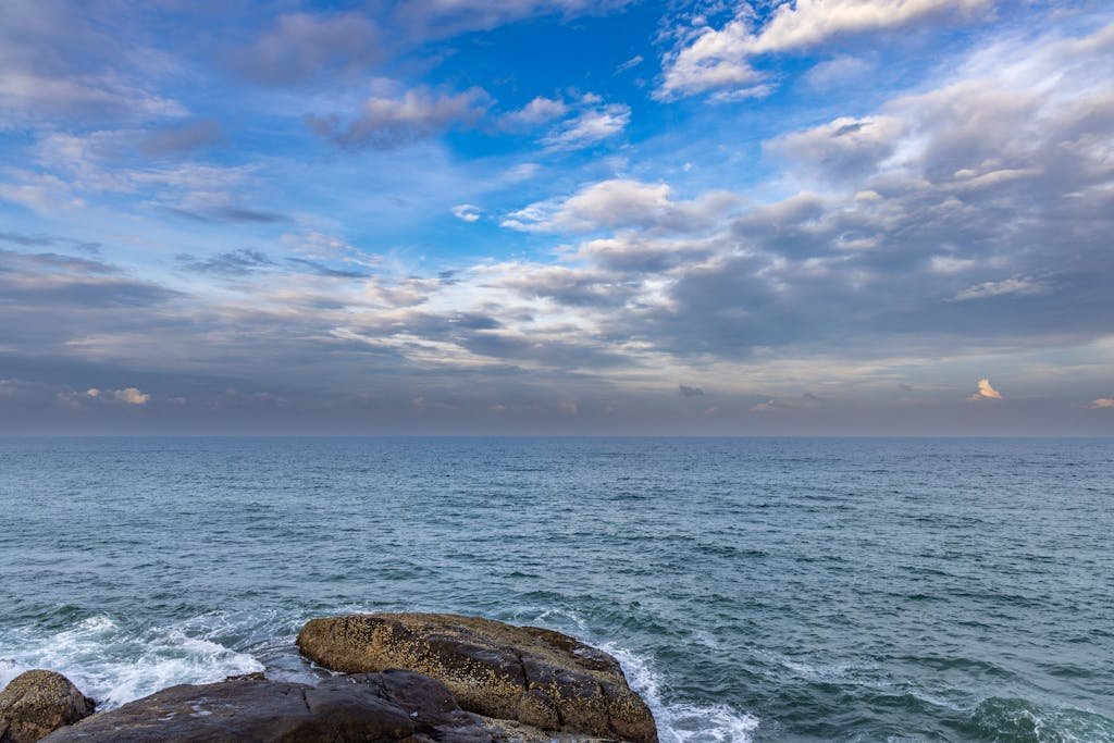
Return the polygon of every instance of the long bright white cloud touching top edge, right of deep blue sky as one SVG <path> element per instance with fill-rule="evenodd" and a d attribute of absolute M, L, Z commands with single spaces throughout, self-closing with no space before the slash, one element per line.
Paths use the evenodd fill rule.
<path fill-rule="evenodd" d="M 723 28 L 702 27 L 666 55 L 654 97 L 672 100 L 709 90 L 746 95 L 761 89 L 765 80 L 765 74 L 752 66 L 761 55 L 931 20 L 957 22 L 989 6 L 990 0 L 798 0 L 776 6 L 755 30 L 758 19 L 751 4 L 741 3 Z"/>

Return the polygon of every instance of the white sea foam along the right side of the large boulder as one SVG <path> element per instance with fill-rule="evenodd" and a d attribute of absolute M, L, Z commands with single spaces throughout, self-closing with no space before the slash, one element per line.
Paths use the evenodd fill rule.
<path fill-rule="evenodd" d="M 750 743 L 759 726 L 754 715 L 725 704 L 667 703 L 663 676 L 645 658 L 610 643 L 600 646 L 623 666 L 631 687 L 649 705 L 662 743 Z"/>

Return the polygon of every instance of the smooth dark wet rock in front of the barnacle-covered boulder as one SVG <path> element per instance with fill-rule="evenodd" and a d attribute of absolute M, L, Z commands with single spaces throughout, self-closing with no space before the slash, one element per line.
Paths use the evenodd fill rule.
<path fill-rule="evenodd" d="M 43 743 L 541 743 L 537 729 L 461 710 L 440 682 L 407 671 L 338 676 L 319 686 L 257 678 L 172 686 L 63 727 Z M 575 739 L 586 741 L 586 739 Z"/>

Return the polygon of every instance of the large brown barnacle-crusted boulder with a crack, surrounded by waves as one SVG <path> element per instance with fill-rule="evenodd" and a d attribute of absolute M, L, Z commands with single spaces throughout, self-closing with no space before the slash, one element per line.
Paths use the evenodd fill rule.
<path fill-rule="evenodd" d="M 549 629 L 451 614 L 353 614 L 309 622 L 297 645 L 344 673 L 404 668 L 461 707 L 527 725 L 656 743 L 649 708 L 603 651 Z"/>

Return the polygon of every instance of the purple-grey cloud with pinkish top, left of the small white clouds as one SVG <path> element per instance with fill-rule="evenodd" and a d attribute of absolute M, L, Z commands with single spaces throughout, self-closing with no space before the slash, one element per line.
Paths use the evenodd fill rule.
<path fill-rule="evenodd" d="M 309 116 L 310 129 L 348 148 L 394 149 L 441 134 L 453 126 L 469 126 L 489 105 L 480 88 L 459 94 L 420 87 L 401 96 L 367 99 L 356 116 Z"/>

